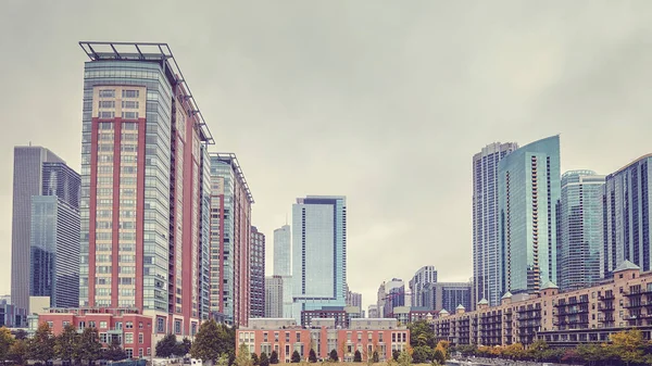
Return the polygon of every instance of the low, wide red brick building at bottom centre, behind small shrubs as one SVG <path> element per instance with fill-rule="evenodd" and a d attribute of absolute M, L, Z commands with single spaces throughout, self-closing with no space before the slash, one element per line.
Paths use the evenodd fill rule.
<path fill-rule="evenodd" d="M 397 319 L 350 319 L 348 328 L 336 326 L 330 318 L 314 318 L 310 327 L 297 325 L 294 319 L 250 319 L 248 327 L 237 330 L 236 348 L 247 344 L 249 352 L 268 356 L 276 351 L 279 362 L 290 362 L 292 353 L 299 352 L 308 359 L 314 349 L 317 358 L 328 358 L 336 350 L 340 359 L 351 362 L 355 351 L 362 361 L 378 352 L 380 361 L 390 359 L 393 350 L 402 351 L 410 344 L 410 330 L 399 326 Z"/>

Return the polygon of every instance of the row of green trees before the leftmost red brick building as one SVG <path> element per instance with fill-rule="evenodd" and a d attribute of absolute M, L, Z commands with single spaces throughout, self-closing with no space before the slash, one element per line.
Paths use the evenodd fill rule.
<path fill-rule="evenodd" d="M 98 330 L 95 328 L 84 328 L 79 333 L 73 325 L 67 325 L 61 335 L 53 336 L 48 324 L 42 323 L 34 337 L 27 339 L 25 336 L 22 333 L 13 337 L 8 328 L 0 328 L 0 362 L 25 365 L 28 359 L 37 364 L 61 359 L 70 365 L 91 365 L 98 359 L 127 358 L 117 339 L 113 339 L 109 348 L 102 349 Z"/>

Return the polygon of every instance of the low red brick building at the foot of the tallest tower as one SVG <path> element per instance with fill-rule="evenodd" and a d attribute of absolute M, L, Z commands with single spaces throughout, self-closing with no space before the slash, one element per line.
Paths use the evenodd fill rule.
<path fill-rule="evenodd" d="M 54 335 L 72 324 L 77 329 L 96 328 L 106 346 L 117 338 L 128 356 L 152 355 L 152 318 L 135 308 L 51 308 L 38 315 L 38 324 L 48 323 Z"/>

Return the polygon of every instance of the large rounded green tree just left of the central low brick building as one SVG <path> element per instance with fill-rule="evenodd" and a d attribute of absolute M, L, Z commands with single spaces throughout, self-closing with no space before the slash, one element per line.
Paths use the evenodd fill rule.
<path fill-rule="evenodd" d="M 223 355 L 226 355 L 227 359 L 235 359 L 235 329 L 229 329 L 223 324 L 218 325 L 211 319 L 199 327 L 195 341 L 190 345 L 190 355 L 204 363 L 208 361 L 216 363 Z"/>

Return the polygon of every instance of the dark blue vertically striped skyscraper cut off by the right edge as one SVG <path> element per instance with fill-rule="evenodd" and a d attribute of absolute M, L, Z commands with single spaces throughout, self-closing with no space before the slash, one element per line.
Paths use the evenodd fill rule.
<path fill-rule="evenodd" d="M 638 265 L 643 272 L 652 269 L 650 166 L 652 154 L 647 154 L 606 176 L 602 194 L 602 277 L 611 277 L 612 272 L 625 260 Z"/>

